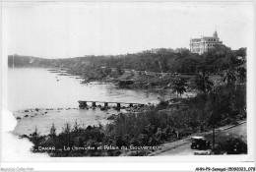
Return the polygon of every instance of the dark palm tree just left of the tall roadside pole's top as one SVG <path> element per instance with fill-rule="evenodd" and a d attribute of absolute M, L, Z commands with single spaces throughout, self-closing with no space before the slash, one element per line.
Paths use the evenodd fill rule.
<path fill-rule="evenodd" d="M 210 92 L 214 86 L 214 83 L 209 80 L 209 76 L 205 73 L 201 73 L 196 77 L 196 87 L 204 94 Z"/>

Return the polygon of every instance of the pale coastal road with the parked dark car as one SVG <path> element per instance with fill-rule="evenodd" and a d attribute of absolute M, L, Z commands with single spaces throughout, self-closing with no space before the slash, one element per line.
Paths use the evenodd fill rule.
<path fill-rule="evenodd" d="M 199 134 L 197 136 L 205 136 L 206 139 L 212 141 L 212 132 L 207 132 L 204 134 Z M 241 122 L 236 126 L 225 126 L 216 130 L 216 144 L 220 143 L 228 138 L 240 138 L 243 142 L 247 143 L 247 125 L 246 122 Z M 180 140 L 173 143 L 163 143 L 163 148 L 161 150 L 153 152 L 153 156 L 166 156 L 166 155 L 194 155 L 195 153 L 206 153 L 208 150 L 198 150 L 191 149 L 190 147 L 190 138 Z"/>

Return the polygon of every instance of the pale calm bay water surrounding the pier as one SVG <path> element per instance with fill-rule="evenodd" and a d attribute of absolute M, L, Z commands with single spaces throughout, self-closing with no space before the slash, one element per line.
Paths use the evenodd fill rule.
<path fill-rule="evenodd" d="M 8 70 L 8 110 L 21 117 L 15 134 L 31 134 L 35 127 L 40 134 L 48 134 L 52 124 L 57 132 L 65 123 L 81 126 L 105 124 L 106 118 L 118 112 L 113 109 L 79 109 L 78 100 L 158 103 L 160 98 L 171 98 L 167 90 L 134 90 L 118 88 L 112 84 L 81 84 L 76 76 L 59 76 L 46 69 L 14 68 Z M 39 108 L 38 112 L 34 111 Z M 58 110 L 58 108 L 62 108 Z M 27 113 L 26 109 L 33 109 Z M 45 110 L 52 109 L 52 110 Z M 46 112 L 46 113 L 45 113 Z"/>

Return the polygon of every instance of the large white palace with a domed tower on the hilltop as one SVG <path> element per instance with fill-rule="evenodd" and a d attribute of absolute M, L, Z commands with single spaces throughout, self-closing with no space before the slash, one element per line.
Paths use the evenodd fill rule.
<path fill-rule="evenodd" d="M 223 41 L 218 37 L 215 30 L 213 36 L 201 36 L 201 38 L 190 38 L 190 51 L 192 53 L 203 54 L 216 45 L 222 45 Z"/>

